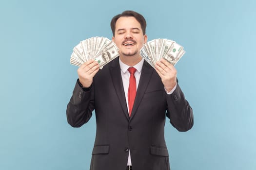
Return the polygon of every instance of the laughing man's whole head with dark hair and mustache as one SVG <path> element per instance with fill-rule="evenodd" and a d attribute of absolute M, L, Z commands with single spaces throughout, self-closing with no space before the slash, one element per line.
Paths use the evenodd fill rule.
<path fill-rule="evenodd" d="M 118 46 L 121 60 L 133 56 L 133 61 L 140 61 L 139 50 L 147 42 L 144 17 L 134 11 L 124 11 L 113 17 L 111 29 L 113 31 L 112 40 Z"/>

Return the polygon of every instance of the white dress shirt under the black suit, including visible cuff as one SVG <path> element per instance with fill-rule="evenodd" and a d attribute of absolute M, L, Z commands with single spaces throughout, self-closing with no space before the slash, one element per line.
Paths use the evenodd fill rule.
<path fill-rule="evenodd" d="M 138 62 L 138 64 L 133 66 L 133 68 L 136 68 L 136 71 L 134 73 L 134 76 L 135 76 L 135 79 L 136 79 L 136 89 L 138 89 L 138 83 L 139 83 L 139 79 L 140 79 L 140 75 L 141 75 L 141 69 L 142 69 L 142 66 L 143 66 L 143 62 L 144 62 L 144 59 L 142 58 L 140 60 L 140 62 Z M 121 76 L 122 76 L 122 82 L 123 82 L 123 89 L 124 89 L 124 93 L 125 93 L 126 105 L 128 106 L 129 105 L 128 104 L 128 88 L 129 88 L 129 80 L 130 80 L 130 72 L 128 71 L 128 68 L 130 68 L 130 66 L 121 62 L 120 58 L 119 58 L 119 65 L 120 65 L 120 68 L 121 68 Z M 176 89 L 176 86 L 177 86 L 177 84 L 175 85 L 175 87 L 170 92 L 167 92 L 165 90 L 166 93 L 167 94 L 172 94 L 173 91 Z M 127 165 L 129 165 L 129 166 L 132 165 L 130 151 L 129 151 Z"/>

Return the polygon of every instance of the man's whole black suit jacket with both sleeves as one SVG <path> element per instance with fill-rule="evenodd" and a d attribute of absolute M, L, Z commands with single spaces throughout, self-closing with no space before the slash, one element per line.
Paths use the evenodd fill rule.
<path fill-rule="evenodd" d="M 118 58 L 104 66 L 84 91 L 77 83 L 67 120 L 80 127 L 95 109 L 97 132 L 90 170 L 125 170 L 129 150 L 134 170 L 169 170 L 165 118 L 178 131 L 193 126 L 193 112 L 177 85 L 167 95 L 158 73 L 144 61 L 131 117 L 128 115 Z"/>

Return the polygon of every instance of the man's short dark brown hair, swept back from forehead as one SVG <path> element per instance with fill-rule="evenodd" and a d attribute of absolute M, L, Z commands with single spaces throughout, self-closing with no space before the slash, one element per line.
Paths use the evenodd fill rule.
<path fill-rule="evenodd" d="M 146 34 L 147 23 L 146 23 L 145 18 L 135 11 L 124 11 L 124 12 L 122 12 L 122 14 L 118 14 L 117 16 L 113 17 L 110 22 L 113 36 L 115 36 L 116 23 L 117 23 L 117 20 L 119 17 L 135 17 L 135 19 L 140 23 L 143 35 Z"/>

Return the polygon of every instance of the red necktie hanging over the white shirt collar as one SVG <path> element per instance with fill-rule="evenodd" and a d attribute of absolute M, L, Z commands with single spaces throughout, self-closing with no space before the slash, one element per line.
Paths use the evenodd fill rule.
<path fill-rule="evenodd" d="M 136 71 L 136 68 L 128 68 L 128 71 L 130 72 L 130 83 L 128 88 L 128 104 L 129 104 L 129 116 L 131 116 L 132 109 L 133 109 L 133 103 L 136 96 L 136 79 L 134 76 L 134 73 Z"/>

